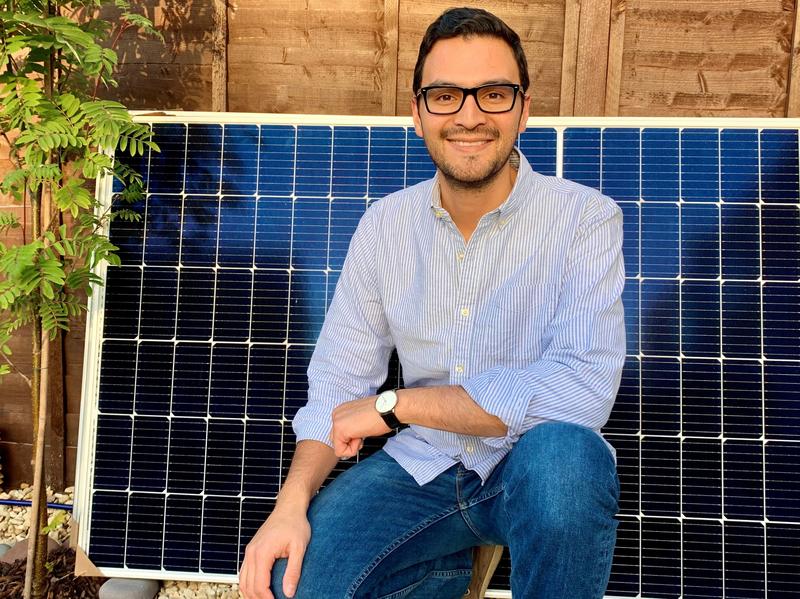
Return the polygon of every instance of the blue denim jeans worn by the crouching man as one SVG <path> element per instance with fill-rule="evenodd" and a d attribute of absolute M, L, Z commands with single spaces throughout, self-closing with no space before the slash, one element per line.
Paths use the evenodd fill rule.
<path fill-rule="evenodd" d="M 589 429 L 547 423 L 523 435 L 485 485 L 458 464 L 419 486 L 379 451 L 311 503 L 296 599 L 458 599 L 474 545 L 507 545 L 519 599 L 603 596 L 619 481 Z M 272 572 L 285 596 L 286 560 Z"/>

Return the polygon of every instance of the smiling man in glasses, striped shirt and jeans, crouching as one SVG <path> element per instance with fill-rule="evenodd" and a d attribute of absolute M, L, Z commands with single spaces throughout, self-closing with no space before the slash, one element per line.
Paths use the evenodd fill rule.
<path fill-rule="evenodd" d="M 619 494 L 598 431 L 625 343 L 620 210 L 533 172 L 519 37 L 483 10 L 428 29 L 411 110 L 436 176 L 353 236 L 312 358 L 248 599 L 455 599 L 471 547 L 509 547 L 515 598 L 602 597 Z M 376 397 L 396 347 L 407 388 Z M 315 493 L 367 437 L 409 427 Z"/>

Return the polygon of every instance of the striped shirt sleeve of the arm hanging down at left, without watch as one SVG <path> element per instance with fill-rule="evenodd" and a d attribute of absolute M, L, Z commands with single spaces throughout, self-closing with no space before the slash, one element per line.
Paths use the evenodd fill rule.
<path fill-rule="evenodd" d="M 371 395 L 386 380 L 394 347 L 375 271 L 377 234 L 368 209 L 350 241 L 308 367 L 308 402 L 292 421 L 298 441 L 332 446 L 331 414 L 346 401 Z"/>

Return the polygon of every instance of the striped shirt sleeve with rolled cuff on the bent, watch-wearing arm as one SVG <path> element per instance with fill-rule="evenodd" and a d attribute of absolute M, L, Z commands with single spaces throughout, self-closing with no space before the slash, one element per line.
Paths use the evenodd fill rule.
<path fill-rule="evenodd" d="M 587 205 L 540 358 L 524 369 L 489 369 L 462 385 L 508 427 L 504 437 L 484 438 L 492 447 L 510 448 L 546 421 L 599 431 L 611 413 L 625 362 L 622 211 L 604 196 Z"/>

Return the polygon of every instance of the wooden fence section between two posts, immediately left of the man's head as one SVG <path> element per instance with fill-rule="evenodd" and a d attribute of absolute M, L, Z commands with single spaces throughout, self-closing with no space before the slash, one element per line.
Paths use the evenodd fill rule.
<path fill-rule="evenodd" d="M 238 2 L 230 110 L 383 114 L 397 79 L 391 13 L 386 0 Z"/>

